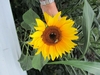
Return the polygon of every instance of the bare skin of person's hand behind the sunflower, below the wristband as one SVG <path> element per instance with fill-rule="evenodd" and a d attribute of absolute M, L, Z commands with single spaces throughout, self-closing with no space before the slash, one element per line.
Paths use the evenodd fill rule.
<path fill-rule="evenodd" d="M 43 12 L 46 12 L 51 16 L 54 16 L 55 14 L 58 13 L 55 2 L 52 2 L 52 3 L 47 4 L 47 5 L 41 5 L 41 9 Z"/>

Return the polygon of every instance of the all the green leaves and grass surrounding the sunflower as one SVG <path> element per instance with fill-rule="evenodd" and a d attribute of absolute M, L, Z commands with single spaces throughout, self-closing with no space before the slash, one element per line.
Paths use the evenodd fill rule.
<path fill-rule="evenodd" d="M 100 0 L 55 0 L 62 16 L 75 21 L 78 46 L 63 58 L 44 61 L 26 42 L 34 32 L 34 18 L 44 20 L 38 0 L 10 0 L 22 50 L 19 62 L 28 75 L 100 75 Z M 47 63 L 48 62 L 48 63 Z"/>

